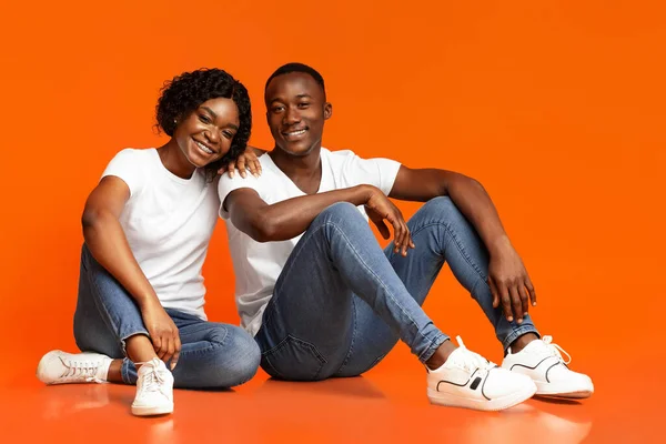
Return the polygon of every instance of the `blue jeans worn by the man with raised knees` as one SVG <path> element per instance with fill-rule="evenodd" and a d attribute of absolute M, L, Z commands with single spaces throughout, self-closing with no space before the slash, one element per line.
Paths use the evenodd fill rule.
<path fill-rule="evenodd" d="M 271 376 L 316 381 L 355 376 L 402 340 L 426 362 L 448 339 L 421 309 L 444 262 L 495 327 L 506 349 L 536 333 L 529 316 L 506 321 L 493 307 L 488 253 L 448 198 L 425 203 L 407 222 L 416 245 L 384 251 L 359 210 L 336 203 L 311 224 L 275 284 L 255 340 Z"/>

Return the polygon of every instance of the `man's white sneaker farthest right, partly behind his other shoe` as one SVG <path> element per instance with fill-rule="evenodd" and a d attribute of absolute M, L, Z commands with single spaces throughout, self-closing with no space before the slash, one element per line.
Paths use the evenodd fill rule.
<path fill-rule="evenodd" d="M 512 354 L 508 349 L 502 367 L 529 376 L 536 384 L 537 395 L 572 398 L 592 396 L 594 384 L 589 376 L 571 371 L 567 364 L 572 362 L 572 356 L 552 342 L 552 336 L 544 336 L 532 341 L 518 353 Z M 562 359 L 561 351 L 566 354 L 567 361 Z"/>

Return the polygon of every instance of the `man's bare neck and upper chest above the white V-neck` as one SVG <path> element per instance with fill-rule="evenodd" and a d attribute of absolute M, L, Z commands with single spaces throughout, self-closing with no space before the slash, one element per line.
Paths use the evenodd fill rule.
<path fill-rule="evenodd" d="M 275 147 L 269 153 L 273 163 L 305 194 L 314 194 L 322 180 L 321 147 L 305 155 L 292 155 Z"/>

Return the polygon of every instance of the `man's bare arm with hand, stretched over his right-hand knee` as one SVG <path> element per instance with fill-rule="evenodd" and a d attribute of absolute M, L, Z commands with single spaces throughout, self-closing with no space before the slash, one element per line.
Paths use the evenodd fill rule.
<path fill-rule="evenodd" d="M 436 169 L 413 170 L 401 167 L 389 196 L 406 201 L 425 202 L 447 195 L 474 225 L 491 254 L 488 283 L 493 305 L 500 301 L 506 317 L 522 322 L 528 311 L 528 296 L 536 305 L 536 293 L 521 258 L 504 231 L 497 210 L 483 185 L 466 175 Z M 527 292 L 525 291 L 527 290 Z"/>

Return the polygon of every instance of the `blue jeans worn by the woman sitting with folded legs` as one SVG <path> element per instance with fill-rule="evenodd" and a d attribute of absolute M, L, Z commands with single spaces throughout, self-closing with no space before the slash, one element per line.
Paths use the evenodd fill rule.
<path fill-rule="evenodd" d="M 179 330 L 180 360 L 173 370 L 174 386 L 218 389 L 240 385 L 254 376 L 260 350 L 252 336 L 239 326 L 205 322 L 167 309 Z M 79 300 L 74 314 L 74 339 L 84 352 L 123 359 L 122 380 L 137 383 L 137 367 L 125 357 L 125 340 L 149 336 L 139 306 L 83 245 Z"/>

